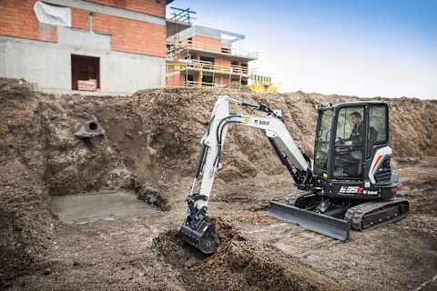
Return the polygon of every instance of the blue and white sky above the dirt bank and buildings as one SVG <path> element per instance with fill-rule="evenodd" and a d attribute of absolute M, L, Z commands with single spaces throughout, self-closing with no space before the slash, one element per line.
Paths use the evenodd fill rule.
<path fill-rule="evenodd" d="M 175 0 L 246 35 L 280 92 L 437 98 L 437 0 Z M 169 10 L 169 9 L 168 9 Z"/>

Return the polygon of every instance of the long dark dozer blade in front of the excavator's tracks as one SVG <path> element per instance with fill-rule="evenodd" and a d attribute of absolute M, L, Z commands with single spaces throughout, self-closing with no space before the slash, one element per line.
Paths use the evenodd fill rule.
<path fill-rule="evenodd" d="M 340 240 L 348 240 L 350 226 L 348 220 L 325 216 L 296 206 L 270 201 L 269 216 L 330 236 Z"/>

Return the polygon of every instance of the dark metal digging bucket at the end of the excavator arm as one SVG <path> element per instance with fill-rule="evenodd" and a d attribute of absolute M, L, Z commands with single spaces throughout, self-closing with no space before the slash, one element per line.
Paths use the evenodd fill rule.
<path fill-rule="evenodd" d="M 197 227 L 191 227 L 187 220 L 179 229 L 179 236 L 191 246 L 197 247 L 204 254 L 213 254 L 219 246 L 219 236 L 214 226 L 202 220 Z"/>

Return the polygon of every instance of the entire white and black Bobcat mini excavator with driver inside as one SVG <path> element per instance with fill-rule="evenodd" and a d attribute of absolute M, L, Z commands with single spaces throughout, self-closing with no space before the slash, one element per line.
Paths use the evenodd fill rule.
<path fill-rule="evenodd" d="M 260 114 L 230 113 L 229 104 Z M 388 104 L 345 102 L 318 105 L 317 110 L 311 160 L 300 151 L 279 110 L 219 96 L 201 139 L 187 197 L 188 216 L 179 236 L 204 254 L 213 254 L 219 246 L 207 212 L 229 125 L 261 130 L 297 188 L 283 201 L 271 200 L 269 216 L 339 240 L 348 240 L 351 229 L 363 230 L 407 216 L 408 200 L 397 196 L 398 175 L 391 171 Z"/>

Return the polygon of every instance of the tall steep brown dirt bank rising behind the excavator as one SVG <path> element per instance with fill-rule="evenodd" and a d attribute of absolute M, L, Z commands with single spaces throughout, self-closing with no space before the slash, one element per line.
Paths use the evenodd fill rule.
<path fill-rule="evenodd" d="M 315 105 L 357 100 L 352 96 L 292 93 L 252 95 L 226 89 L 160 89 L 126 97 L 45 95 L 23 81 L 3 79 L 0 87 L 2 165 L 19 160 L 41 179 L 49 195 L 131 188 L 190 176 L 201 136 L 219 95 L 280 109 L 291 135 L 312 156 Z M 437 155 L 437 101 L 393 99 L 394 156 Z M 233 108 L 231 109 L 239 109 Z M 106 135 L 89 140 L 74 134 L 97 117 Z M 233 126 L 224 146 L 219 178 L 284 171 L 267 139 L 256 129 Z"/>

